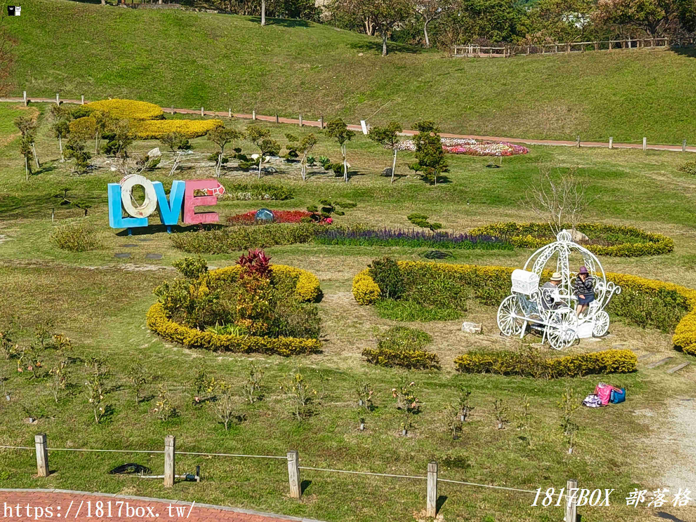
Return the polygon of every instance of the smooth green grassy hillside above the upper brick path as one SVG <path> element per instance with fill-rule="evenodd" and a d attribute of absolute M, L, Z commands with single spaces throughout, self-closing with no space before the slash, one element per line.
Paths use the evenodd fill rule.
<path fill-rule="evenodd" d="M 373 124 L 427 118 L 466 134 L 696 141 L 696 53 L 445 58 L 330 26 L 26 0 L 13 92 Z M 360 56 L 363 54 L 363 56 Z M 373 116 L 374 115 L 374 116 Z"/>

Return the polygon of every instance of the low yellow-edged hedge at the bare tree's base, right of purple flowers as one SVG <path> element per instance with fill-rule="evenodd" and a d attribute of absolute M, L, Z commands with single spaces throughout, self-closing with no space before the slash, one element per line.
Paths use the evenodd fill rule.
<path fill-rule="evenodd" d="M 564 226 L 571 228 L 570 224 Z M 615 257 L 638 257 L 641 255 L 667 254 L 674 250 L 672 238 L 645 232 L 640 228 L 602 223 L 578 223 L 576 230 L 590 237 L 590 242 L 583 246 L 596 255 Z M 547 223 L 491 223 L 469 230 L 471 235 L 487 234 L 507 237 L 519 248 L 541 248 L 555 240 L 551 227 Z"/>

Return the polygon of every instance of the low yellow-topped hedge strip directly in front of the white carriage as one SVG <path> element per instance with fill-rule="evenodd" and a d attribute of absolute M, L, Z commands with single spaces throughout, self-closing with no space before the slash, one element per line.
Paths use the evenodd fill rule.
<path fill-rule="evenodd" d="M 462 373 L 492 373 L 538 377 L 539 366 L 549 379 L 583 377 L 593 374 L 631 373 L 636 371 L 638 357 L 631 350 L 604 350 L 533 362 L 516 351 L 469 351 L 454 359 L 454 367 Z"/>

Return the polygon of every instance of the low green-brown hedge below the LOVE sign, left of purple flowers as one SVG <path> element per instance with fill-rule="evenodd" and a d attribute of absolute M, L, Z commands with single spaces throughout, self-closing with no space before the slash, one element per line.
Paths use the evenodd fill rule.
<path fill-rule="evenodd" d="M 314 237 L 315 227 L 310 223 L 236 226 L 222 230 L 173 234 L 171 240 L 175 248 L 184 252 L 225 254 L 248 248 L 310 243 Z"/>

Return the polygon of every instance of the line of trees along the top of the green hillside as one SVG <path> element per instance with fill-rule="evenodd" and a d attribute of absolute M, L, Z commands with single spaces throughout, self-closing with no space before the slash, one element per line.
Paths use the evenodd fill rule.
<path fill-rule="evenodd" d="M 203 6 L 201 0 L 182 0 Z M 454 45 L 541 45 L 679 38 L 696 31 L 696 0 L 206 0 L 236 15 L 303 19 L 450 51 Z"/>

